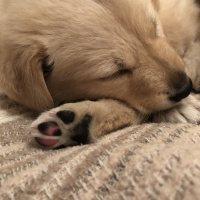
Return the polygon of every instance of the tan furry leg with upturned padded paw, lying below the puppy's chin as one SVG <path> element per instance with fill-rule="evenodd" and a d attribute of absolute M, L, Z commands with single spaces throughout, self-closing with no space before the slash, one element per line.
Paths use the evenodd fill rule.
<path fill-rule="evenodd" d="M 123 127 L 140 124 L 144 116 L 114 100 L 68 103 L 43 113 L 31 125 L 42 146 L 55 148 L 95 142 Z"/>

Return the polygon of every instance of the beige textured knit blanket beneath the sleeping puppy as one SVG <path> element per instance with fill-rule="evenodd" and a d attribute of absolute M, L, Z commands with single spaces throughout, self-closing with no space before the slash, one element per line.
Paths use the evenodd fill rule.
<path fill-rule="evenodd" d="M 34 113 L 0 96 L 0 199 L 200 199 L 200 127 L 144 124 L 95 144 L 43 150 Z"/>

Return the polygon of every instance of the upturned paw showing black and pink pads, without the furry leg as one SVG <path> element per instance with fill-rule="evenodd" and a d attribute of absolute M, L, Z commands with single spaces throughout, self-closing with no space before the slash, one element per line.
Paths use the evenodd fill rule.
<path fill-rule="evenodd" d="M 91 120 L 86 113 L 77 116 L 62 107 L 53 109 L 32 123 L 32 136 L 38 144 L 50 148 L 86 144 Z"/>

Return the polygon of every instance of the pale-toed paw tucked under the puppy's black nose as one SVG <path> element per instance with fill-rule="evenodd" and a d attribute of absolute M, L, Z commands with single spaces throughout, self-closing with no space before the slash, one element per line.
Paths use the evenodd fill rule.
<path fill-rule="evenodd" d="M 200 101 L 193 95 L 184 99 L 176 107 L 153 115 L 153 122 L 200 123 Z"/>

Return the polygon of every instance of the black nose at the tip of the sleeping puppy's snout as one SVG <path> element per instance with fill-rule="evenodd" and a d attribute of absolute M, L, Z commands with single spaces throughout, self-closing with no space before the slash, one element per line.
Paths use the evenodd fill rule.
<path fill-rule="evenodd" d="M 174 80 L 173 82 L 177 83 L 174 84 L 174 94 L 169 97 L 171 101 L 179 102 L 186 98 L 192 91 L 192 81 L 186 75 L 181 75 L 177 80 Z"/>

